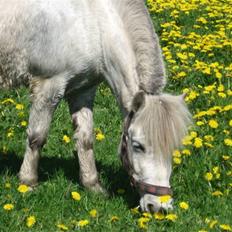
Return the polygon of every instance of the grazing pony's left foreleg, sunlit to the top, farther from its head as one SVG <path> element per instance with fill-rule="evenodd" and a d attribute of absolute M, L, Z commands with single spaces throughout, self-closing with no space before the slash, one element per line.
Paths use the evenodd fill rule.
<path fill-rule="evenodd" d="M 46 141 L 53 112 L 64 95 L 63 75 L 49 79 L 34 78 L 31 82 L 32 106 L 27 129 L 26 152 L 20 168 L 21 183 L 35 186 L 38 182 L 38 161 Z"/>

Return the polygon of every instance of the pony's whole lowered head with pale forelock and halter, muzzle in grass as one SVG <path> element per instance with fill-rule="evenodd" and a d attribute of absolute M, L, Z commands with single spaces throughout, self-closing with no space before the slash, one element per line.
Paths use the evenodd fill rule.
<path fill-rule="evenodd" d="M 142 91 L 135 95 L 125 120 L 120 154 L 139 191 L 143 211 L 172 208 L 172 198 L 162 203 L 160 196 L 171 195 L 172 152 L 181 144 L 190 118 L 184 96 Z"/>

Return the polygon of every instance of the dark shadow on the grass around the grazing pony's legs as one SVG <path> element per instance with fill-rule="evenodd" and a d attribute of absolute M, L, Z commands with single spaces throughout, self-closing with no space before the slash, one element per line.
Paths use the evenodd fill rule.
<path fill-rule="evenodd" d="M 75 156 L 76 157 L 76 156 Z M 2 154 L 0 153 L 0 175 L 18 175 L 23 158 L 17 156 L 15 153 Z M 107 185 L 107 191 L 110 198 L 119 195 L 117 190 L 124 189 L 125 194 L 121 194 L 128 207 L 134 207 L 138 204 L 139 196 L 131 188 L 129 183 L 129 177 L 122 167 L 115 169 L 115 167 L 103 164 L 100 161 L 96 162 L 98 171 L 101 172 L 101 176 Z M 57 171 L 62 170 L 64 176 L 75 183 L 79 181 L 79 166 L 77 158 L 59 158 L 59 157 L 45 157 L 40 158 L 39 163 L 39 182 L 46 182 L 54 178 Z"/>

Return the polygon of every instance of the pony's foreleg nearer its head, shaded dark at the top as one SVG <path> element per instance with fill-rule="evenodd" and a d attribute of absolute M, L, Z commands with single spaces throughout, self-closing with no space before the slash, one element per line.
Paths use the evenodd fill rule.
<path fill-rule="evenodd" d="M 93 101 L 96 87 L 68 97 L 75 129 L 74 140 L 78 151 L 80 181 L 90 190 L 105 192 L 98 179 L 93 153 Z"/>

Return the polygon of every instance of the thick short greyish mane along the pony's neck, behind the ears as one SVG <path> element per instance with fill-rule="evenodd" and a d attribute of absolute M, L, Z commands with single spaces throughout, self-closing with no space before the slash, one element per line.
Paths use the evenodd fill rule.
<path fill-rule="evenodd" d="M 144 0 L 113 0 L 131 40 L 137 60 L 140 89 L 159 94 L 165 83 L 165 69 L 159 39 Z"/>

